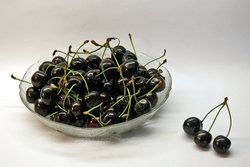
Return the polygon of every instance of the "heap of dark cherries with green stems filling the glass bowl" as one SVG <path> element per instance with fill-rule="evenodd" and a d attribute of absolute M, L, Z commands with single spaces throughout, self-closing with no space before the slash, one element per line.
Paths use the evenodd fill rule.
<path fill-rule="evenodd" d="M 96 128 L 125 122 L 151 111 L 157 104 L 157 92 L 165 89 L 161 65 L 147 69 L 134 52 L 120 45 L 117 38 L 107 38 L 104 44 L 86 40 L 72 51 L 55 50 L 52 61 L 45 61 L 31 77 L 26 99 L 34 110 L 53 121 L 77 127 Z M 111 40 L 118 40 L 115 47 Z M 91 42 L 94 50 L 84 49 Z M 97 55 L 97 51 L 101 51 Z M 104 55 L 108 57 L 104 58 Z M 64 54 L 59 56 L 57 54 Z M 164 54 L 157 59 L 165 56 Z"/>

